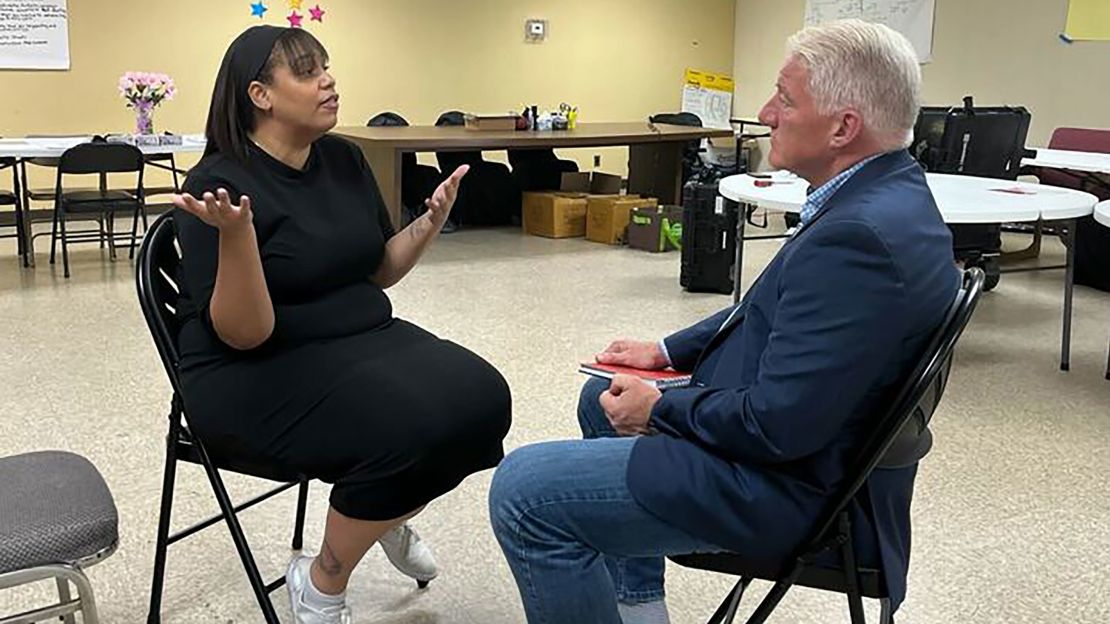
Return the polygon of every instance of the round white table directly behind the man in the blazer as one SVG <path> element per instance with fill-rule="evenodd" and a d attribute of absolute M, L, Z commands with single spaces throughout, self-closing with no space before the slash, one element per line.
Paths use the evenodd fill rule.
<path fill-rule="evenodd" d="M 1060 344 L 1060 369 L 1067 371 L 1071 360 L 1071 294 L 1074 272 L 1076 222 L 1094 210 L 1098 198 L 1072 189 L 1046 184 L 926 173 L 929 189 L 940 209 L 945 223 L 1002 223 L 1037 220 L 1067 221 L 1068 261 L 1062 266 L 1041 266 L 1035 270 L 1064 269 L 1063 332 Z M 770 182 L 757 187 L 756 182 Z M 749 174 L 730 175 L 720 181 L 720 194 L 735 202 L 755 204 L 771 210 L 799 212 L 806 201 L 808 183 L 788 172 L 775 172 L 770 178 Z M 738 220 L 739 241 L 736 245 L 736 275 L 740 274 L 744 260 L 744 211 Z M 1110 214 L 1107 215 L 1110 220 Z M 766 238 L 766 236 L 764 236 Z M 734 290 L 739 298 L 739 284 Z"/>

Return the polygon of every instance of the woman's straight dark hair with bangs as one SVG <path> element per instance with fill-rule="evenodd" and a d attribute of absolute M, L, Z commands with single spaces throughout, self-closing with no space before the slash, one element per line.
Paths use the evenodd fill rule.
<path fill-rule="evenodd" d="M 251 82 L 272 84 L 274 69 L 281 64 L 287 66 L 294 76 L 311 74 L 327 64 L 327 51 L 309 31 L 289 28 L 278 36 L 258 76 L 238 76 L 233 60 L 233 50 L 229 48 L 212 90 L 204 128 L 208 140 L 204 155 L 221 153 L 245 163 L 250 153 L 249 134 L 254 130 L 254 102 L 246 92 Z"/>

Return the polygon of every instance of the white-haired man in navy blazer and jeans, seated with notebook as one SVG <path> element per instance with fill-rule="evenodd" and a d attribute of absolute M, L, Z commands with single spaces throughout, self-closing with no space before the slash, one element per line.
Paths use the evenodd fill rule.
<path fill-rule="evenodd" d="M 860 21 L 795 34 L 759 113 L 770 164 L 809 183 L 801 225 L 739 304 L 598 361 L 693 371 L 659 392 L 591 381 L 586 440 L 512 453 L 494 531 L 528 622 L 667 622 L 665 555 L 779 561 L 814 529 L 852 453 L 959 288 L 951 239 L 905 150 L 919 108 L 909 42 Z M 852 510 L 861 563 L 905 595 L 920 453 L 885 462 Z"/>

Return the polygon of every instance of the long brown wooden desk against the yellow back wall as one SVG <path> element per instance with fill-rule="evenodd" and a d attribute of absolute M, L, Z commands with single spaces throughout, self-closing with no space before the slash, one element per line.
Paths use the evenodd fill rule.
<path fill-rule="evenodd" d="M 575 130 L 551 132 L 478 131 L 434 125 L 345 125 L 332 132 L 362 148 L 395 224 L 401 220 L 401 154 L 404 152 L 628 145 L 628 192 L 677 204 L 682 203 L 683 147 L 686 142 L 733 137 L 730 130 L 652 125 L 646 121 L 579 123 Z"/>

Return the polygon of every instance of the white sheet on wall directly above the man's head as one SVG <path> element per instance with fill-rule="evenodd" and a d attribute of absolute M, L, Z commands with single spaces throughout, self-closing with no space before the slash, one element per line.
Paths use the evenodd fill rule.
<path fill-rule="evenodd" d="M 917 60 L 932 60 L 936 0 L 806 0 L 806 26 L 859 18 L 889 26 L 906 36 Z"/>

